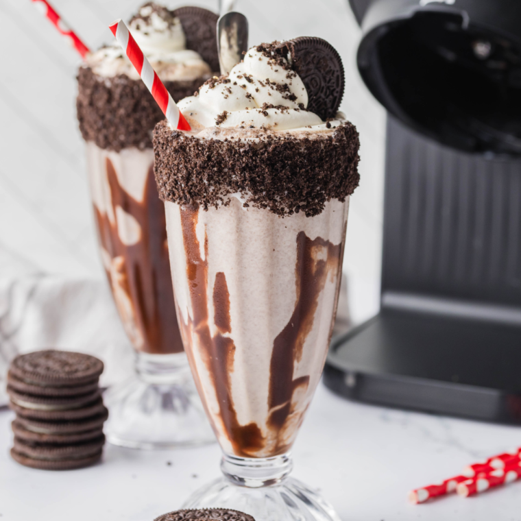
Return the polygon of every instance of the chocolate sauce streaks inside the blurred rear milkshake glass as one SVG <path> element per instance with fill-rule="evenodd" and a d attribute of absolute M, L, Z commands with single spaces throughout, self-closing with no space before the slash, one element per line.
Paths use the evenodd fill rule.
<path fill-rule="evenodd" d="M 108 215 L 96 206 L 94 210 L 101 247 L 112 263 L 112 269 L 107 269 L 106 273 L 113 293 L 114 287 L 124 291 L 132 306 L 132 317 L 128 317 L 127 313 L 122 313 L 121 303 L 114 294 L 125 330 L 140 351 L 181 352 L 183 345 L 175 319 L 165 209 L 158 198 L 153 165 L 149 167 L 143 202 L 136 201 L 119 184 L 109 158 L 106 158 L 106 170 L 115 222 L 111 223 Z M 119 237 L 117 206 L 132 215 L 141 228 L 141 237 L 134 245 L 125 245 Z"/>

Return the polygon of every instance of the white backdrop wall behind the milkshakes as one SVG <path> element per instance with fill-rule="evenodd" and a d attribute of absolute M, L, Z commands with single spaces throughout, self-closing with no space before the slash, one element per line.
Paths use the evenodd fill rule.
<path fill-rule="evenodd" d="M 108 23 L 128 18 L 141 3 L 53 0 L 91 48 L 110 41 Z M 217 10 L 217 0 L 195 3 Z M 347 0 L 238 0 L 236 8 L 250 21 L 251 45 L 319 36 L 343 58 L 346 93 L 341 110 L 358 127 L 362 143 L 361 185 L 350 205 L 344 265 L 352 315 L 359 322 L 378 307 L 385 123 L 383 109 L 356 71 L 359 27 Z M 9 280 L 7 287 L 12 287 L 13 280 L 15 285 L 22 280 L 27 288 L 28 279 L 35 287 L 49 278 L 73 284 L 101 280 L 75 119 L 80 58 L 29 0 L 0 1 L 0 49 L 0 281 L 6 287 Z M 4 311 L 10 307 L 6 299 L 0 294 L 0 326 L 2 306 Z"/>

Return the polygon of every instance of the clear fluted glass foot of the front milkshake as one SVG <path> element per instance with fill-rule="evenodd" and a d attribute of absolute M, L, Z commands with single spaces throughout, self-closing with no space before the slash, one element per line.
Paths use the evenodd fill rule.
<path fill-rule="evenodd" d="M 225 456 L 224 477 L 197 490 L 182 508 L 228 508 L 256 521 L 340 521 L 317 492 L 287 477 L 291 466 L 289 455 L 257 460 Z"/>

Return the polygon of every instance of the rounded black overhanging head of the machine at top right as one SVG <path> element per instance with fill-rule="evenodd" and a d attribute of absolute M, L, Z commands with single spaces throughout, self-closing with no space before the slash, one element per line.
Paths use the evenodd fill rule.
<path fill-rule="evenodd" d="M 465 152 L 521 156 L 521 2 L 355 4 L 359 70 L 391 114 Z"/>

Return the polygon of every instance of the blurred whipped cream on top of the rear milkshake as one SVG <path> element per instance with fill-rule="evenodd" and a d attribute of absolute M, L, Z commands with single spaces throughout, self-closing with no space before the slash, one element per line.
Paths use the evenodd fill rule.
<path fill-rule="evenodd" d="M 162 80 L 195 80 L 211 73 L 199 53 L 186 49 L 181 22 L 167 8 L 146 3 L 128 25 L 134 40 Z M 126 74 L 134 80 L 139 79 L 115 41 L 90 55 L 87 64 L 100 76 Z"/>

